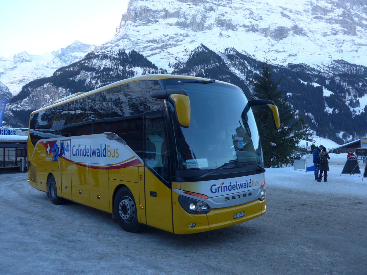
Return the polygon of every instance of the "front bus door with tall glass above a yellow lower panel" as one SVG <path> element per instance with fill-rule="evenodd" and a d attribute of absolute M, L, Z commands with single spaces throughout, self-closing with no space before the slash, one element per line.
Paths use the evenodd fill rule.
<path fill-rule="evenodd" d="M 170 156 L 163 111 L 145 113 L 144 125 L 146 223 L 173 232 Z"/>

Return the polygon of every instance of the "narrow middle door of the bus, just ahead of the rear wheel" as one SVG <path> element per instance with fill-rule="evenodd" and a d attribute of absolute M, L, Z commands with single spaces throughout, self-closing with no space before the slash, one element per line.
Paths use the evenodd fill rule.
<path fill-rule="evenodd" d="M 70 140 L 61 140 L 60 148 L 61 181 L 58 184 L 61 184 L 62 197 L 72 200 Z"/>

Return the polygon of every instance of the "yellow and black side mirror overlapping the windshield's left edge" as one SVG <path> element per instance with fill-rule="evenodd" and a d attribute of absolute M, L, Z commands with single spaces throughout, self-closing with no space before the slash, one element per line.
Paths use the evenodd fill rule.
<path fill-rule="evenodd" d="M 174 112 L 180 126 L 190 126 L 191 109 L 190 99 L 184 89 L 167 89 L 150 92 L 152 98 L 170 99 L 174 106 Z"/>

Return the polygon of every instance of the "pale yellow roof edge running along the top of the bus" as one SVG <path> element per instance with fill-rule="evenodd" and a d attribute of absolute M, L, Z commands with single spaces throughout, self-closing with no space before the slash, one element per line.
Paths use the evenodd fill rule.
<path fill-rule="evenodd" d="M 47 106 L 47 107 L 40 108 L 38 110 L 35 110 L 31 114 L 35 114 L 35 113 L 38 113 L 40 111 L 47 110 L 51 107 L 55 107 L 55 106 L 58 106 L 58 105 L 61 105 L 61 104 L 64 104 L 64 103 L 71 102 L 71 101 L 79 99 L 79 98 L 83 98 L 84 96 L 96 94 L 96 93 L 104 91 L 106 89 L 119 86 L 121 84 L 134 82 L 134 81 L 140 81 L 140 80 L 161 80 L 161 79 L 167 79 L 167 78 L 182 78 L 182 79 L 194 79 L 194 80 L 203 80 L 203 81 L 211 80 L 210 78 L 203 78 L 203 77 L 196 77 L 196 76 L 179 76 L 179 75 L 175 75 L 175 74 L 146 74 L 144 76 L 136 76 L 136 77 L 126 78 L 124 80 L 120 80 L 120 81 L 102 86 L 100 88 L 94 89 L 94 90 L 89 91 L 89 92 L 77 92 L 76 94 L 65 96 L 64 98 L 55 100 L 54 104 L 51 104 L 50 106 Z M 227 82 L 220 81 L 220 80 L 216 80 L 215 82 L 228 84 L 228 85 L 233 85 L 231 83 L 227 83 Z M 233 85 L 233 86 L 236 86 L 236 85 Z"/>

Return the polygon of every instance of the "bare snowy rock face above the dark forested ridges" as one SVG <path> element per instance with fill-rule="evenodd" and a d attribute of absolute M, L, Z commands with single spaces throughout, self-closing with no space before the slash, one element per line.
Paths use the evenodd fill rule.
<path fill-rule="evenodd" d="M 165 69 L 200 43 L 279 65 L 366 66 L 366 41 L 367 0 L 130 0 L 113 39 L 95 51 L 135 49 Z"/>

